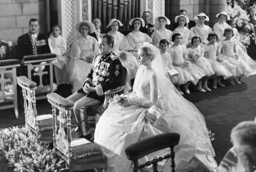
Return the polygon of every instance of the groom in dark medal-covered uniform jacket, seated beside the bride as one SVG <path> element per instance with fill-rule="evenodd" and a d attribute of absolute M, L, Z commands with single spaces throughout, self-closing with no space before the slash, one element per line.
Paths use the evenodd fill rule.
<path fill-rule="evenodd" d="M 84 81 L 83 88 L 70 95 L 67 99 L 74 102 L 74 115 L 78 124 L 80 138 L 92 141 L 91 128 L 88 126 L 89 109 L 104 102 L 104 93 L 122 86 L 123 66 L 119 58 L 112 52 L 114 37 L 102 34 L 99 37 L 100 53 L 94 57 L 92 69 Z M 85 110 L 84 110 L 85 109 Z"/>

